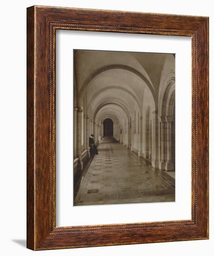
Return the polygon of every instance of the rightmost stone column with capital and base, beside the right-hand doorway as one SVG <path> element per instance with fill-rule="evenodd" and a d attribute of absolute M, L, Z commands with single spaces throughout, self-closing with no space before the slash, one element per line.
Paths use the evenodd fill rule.
<path fill-rule="evenodd" d="M 174 170 L 174 165 L 172 163 L 172 122 L 174 121 L 174 116 L 166 116 L 166 152 L 167 152 L 167 157 L 166 157 L 166 166 L 165 169 L 167 171 L 173 171 Z"/>

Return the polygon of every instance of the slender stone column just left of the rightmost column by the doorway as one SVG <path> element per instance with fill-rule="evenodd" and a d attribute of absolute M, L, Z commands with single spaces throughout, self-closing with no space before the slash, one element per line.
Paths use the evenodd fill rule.
<path fill-rule="evenodd" d="M 159 117 L 160 121 L 160 162 L 159 169 L 164 170 L 166 164 L 166 155 L 165 155 L 165 127 L 166 127 L 166 119 L 165 116 Z"/>

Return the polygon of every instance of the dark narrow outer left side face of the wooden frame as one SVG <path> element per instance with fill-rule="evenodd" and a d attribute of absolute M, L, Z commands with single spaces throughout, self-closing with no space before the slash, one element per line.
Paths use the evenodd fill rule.
<path fill-rule="evenodd" d="M 27 9 L 27 248 L 34 236 L 34 11 Z"/>

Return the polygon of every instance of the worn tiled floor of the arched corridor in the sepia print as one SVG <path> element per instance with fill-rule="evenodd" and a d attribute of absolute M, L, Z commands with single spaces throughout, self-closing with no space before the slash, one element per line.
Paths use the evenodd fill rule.
<path fill-rule="evenodd" d="M 98 152 L 74 205 L 175 201 L 174 187 L 119 142 L 104 138 Z"/>

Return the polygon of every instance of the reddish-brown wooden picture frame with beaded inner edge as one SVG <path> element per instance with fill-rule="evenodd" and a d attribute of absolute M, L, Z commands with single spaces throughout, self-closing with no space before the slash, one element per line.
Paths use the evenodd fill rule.
<path fill-rule="evenodd" d="M 57 29 L 189 36 L 192 40 L 192 218 L 56 227 Z M 27 248 L 208 239 L 208 17 L 64 7 L 27 8 Z"/>

